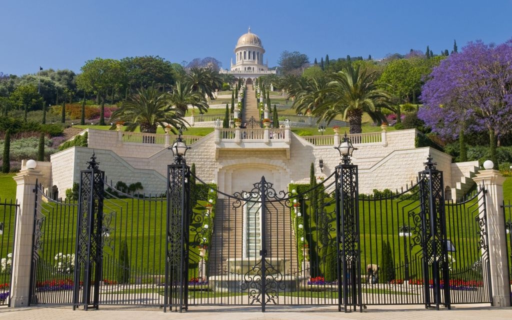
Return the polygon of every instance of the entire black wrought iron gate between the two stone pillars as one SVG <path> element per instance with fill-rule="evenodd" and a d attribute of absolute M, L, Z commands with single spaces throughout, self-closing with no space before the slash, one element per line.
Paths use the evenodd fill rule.
<path fill-rule="evenodd" d="M 142 196 L 109 184 L 93 154 L 78 203 L 36 188 L 31 303 L 490 302 L 484 190 L 447 203 L 442 173 L 432 158 L 425 165 L 400 193 L 359 195 L 357 166 L 344 158 L 317 185 L 275 190 L 262 177 L 230 195 L 181 159 L 161 194 Z"/>

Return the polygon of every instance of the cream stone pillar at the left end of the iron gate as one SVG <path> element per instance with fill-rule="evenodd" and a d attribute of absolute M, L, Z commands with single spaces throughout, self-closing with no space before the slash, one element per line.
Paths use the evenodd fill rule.
<path fill-rule="evenodd" d="M 24 169 L 14 177 L 19 209 L 16 214 L 16 233 L 12 254 L 11 307 L 26 307 L 29 303 L 35 214 L 34 189 L 37 179 L 41 179 L 42 176 L 36 169 Z"/>

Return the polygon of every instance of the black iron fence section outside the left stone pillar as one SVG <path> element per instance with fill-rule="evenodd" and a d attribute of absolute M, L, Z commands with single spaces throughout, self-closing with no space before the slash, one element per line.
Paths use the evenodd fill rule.
<path fill-rule="evenodd" d="M 0 306 L 10 305 L 16 201 L 0 199 Z"/>

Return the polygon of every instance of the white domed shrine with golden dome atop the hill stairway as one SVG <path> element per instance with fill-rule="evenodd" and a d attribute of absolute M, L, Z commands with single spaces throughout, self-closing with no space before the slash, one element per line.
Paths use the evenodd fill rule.
<path fill-rule="evenodd" d="M 251 28 L 238 39 L 234 54 L 236 62 L 233 63 L 231 58 L 230 70 L 221 69 L 220 73 L 232 74 L 244 79 L 247 84 L 252 84 L 254 79 L 262 75 L 275 73 L 275 70 L 268 70 L 268 63 L 263 63 L 265 49 L 260 37 L 252 33 Z"/>

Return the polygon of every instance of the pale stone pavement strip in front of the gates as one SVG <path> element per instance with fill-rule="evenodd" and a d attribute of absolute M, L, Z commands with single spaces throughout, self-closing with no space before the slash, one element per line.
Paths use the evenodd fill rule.
<path fill-rule="evenodd" d="M 207 320 L 330 320 L 330 319 L 511 319 L 512 308 L 494 308 L 488 305 L 458 305 L 452 310 L 426 310 L 421 306 L 369 306 L 364 312 L 337 312 L 336 307 L 267 307 L 262 313 L 257 307 L 190 307 L 187 312 L 164 313 L 158 308 L 101 306 L 100 310 L 76 310 L 66 307 L 0 308 L 0 319 L 9 320 L 131 320 L 131 319 L 207 319 Z"/>

